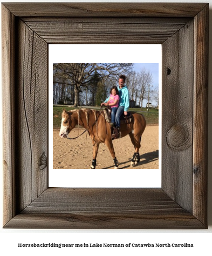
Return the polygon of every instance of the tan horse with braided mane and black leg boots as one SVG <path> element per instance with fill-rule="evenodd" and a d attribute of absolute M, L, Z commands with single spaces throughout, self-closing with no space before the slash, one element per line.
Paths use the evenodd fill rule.
<path fill-rule="evenodd" d="M 139 149 L 141 147 L 141 136 L 146 127 L 146 120 L 142 114 L 131 112 L 133 115 L 133 122 L 129 124 L 122 124 L 120 127 L 120 137 L 125 137 L 127 134 L 131 138 L 131 142 L 134 145 L 135 152 L 131 160 L 131 167 L 134 167 L 139 163 L 140 155 Z M 115 157 L 115 151 L 113 148 L 111 126 L 107 123 L 104 111 L 95 111 L 92 109 L 79 109 L 66 110 L 62 113 L 61 127 L 59 136 L 61 138 L 69 138 L 68 134 L 76 125 L 83 126 L 90 135 L 93 144 L 93 160 L 91 169 L 95 169 L 97 153 L 100 143 L 105 143 L 111 156 L 114 160 L 115 167 L 118 169 L 119 163 Z"/>

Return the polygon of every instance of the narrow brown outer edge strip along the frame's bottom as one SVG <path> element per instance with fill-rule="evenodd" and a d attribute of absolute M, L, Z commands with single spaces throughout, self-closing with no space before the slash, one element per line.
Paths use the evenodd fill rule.
<path fill-rule="evenodd" d="M 202 229 L 205 228 L 192 214 L 18 214 L 5 228 L 49 229 Z"/>

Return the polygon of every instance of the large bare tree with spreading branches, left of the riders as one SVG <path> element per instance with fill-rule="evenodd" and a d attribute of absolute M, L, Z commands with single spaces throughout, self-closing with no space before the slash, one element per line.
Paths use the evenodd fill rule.
<path fill-rule="evenodd" d="M 53 64 L 53 76 L 70 79 L 74 86 L 74 106 L 80 105 L 81 87 L 87 87 L 94 72 L 100 78 L 118 77 L 132 69 L 132 63 L 57 63 Z"/>

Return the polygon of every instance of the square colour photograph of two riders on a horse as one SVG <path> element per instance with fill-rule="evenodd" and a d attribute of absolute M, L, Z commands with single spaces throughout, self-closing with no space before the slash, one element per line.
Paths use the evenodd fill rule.
<path fill-rule="evenodd" d="M 53 169 L 159 169 L 159 63 L 54 63 L 52 91 Z"/>

